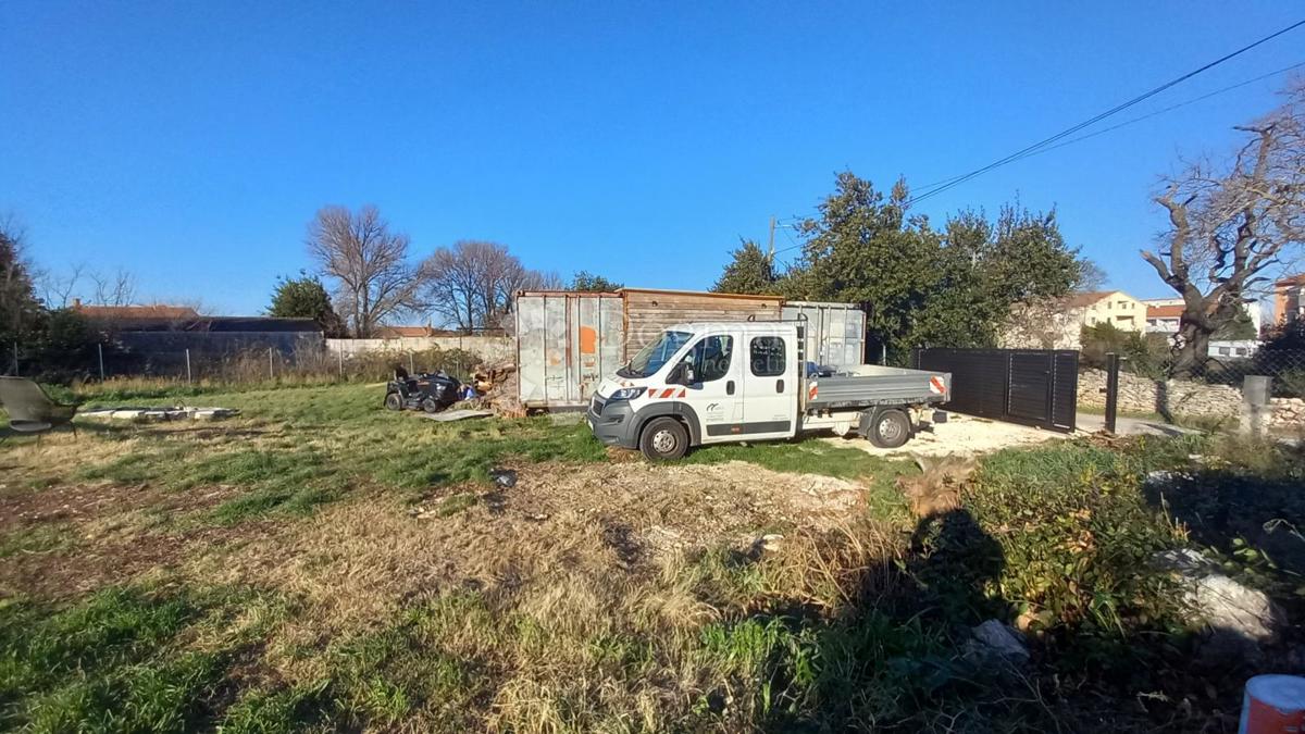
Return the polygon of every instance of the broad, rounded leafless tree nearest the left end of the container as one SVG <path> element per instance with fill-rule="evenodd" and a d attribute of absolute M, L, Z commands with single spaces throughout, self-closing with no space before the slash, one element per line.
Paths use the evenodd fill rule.
<path fill-rule="evenodd" d="M 523 266 L 502 244 L 459 240 L 422 264 L 422 282 L 431 311 L 470 333 L 499 327 L 518 290 L 560 287 L 561 278 Z"/>

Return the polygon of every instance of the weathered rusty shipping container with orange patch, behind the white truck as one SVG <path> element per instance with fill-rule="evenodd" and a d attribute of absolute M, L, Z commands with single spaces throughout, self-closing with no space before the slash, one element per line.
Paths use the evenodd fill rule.
<path fill-rule="evenodd" d="M 518 397 L 527 409 L 582 407 L 604 376 L 672 324 L 799 313 L 812 324 L 808 354 L 822 355 L 823 364 L 860 363 L 865 315 L 846 303 L 651 289 L 522 291 L 515 300 Z"/>

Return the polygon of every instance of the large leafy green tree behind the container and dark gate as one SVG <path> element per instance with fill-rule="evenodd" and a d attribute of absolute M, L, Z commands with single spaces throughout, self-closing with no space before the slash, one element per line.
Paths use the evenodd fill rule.
<path fill-rule="evenodd" d="M 962 212 L 937 231 L 908 215 L 908 200 L 904 182 L 885 196 L 839 174 L 801 226 L 803 257 L 779 281 L 784 295 L 863 304 L 872 350 L 900 362 L 916 346 L 989 346 L 1013 304 L 1064 295 L 1079 279 L 1054 213 L 1017 204 L 992 222 Z"/>

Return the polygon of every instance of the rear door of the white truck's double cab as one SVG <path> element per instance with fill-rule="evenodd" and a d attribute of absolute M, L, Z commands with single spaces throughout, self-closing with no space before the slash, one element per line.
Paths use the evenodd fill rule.
<path fill-rule="evenodd" d="M 793 435 L 797 421 L 797 349 L 792 337 L 748 334 L 740 345 L 746 362 L 743 377 L 744 426 L 749 439 Z"/>

